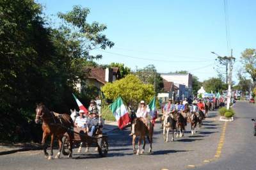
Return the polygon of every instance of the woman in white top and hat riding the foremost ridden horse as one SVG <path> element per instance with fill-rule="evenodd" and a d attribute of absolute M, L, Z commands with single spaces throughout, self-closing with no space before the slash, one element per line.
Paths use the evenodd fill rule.
<path fill-rule="evenodd" d="M 143 122 L 147 127 L 149 126 L 149 123 L 150 123 L 148 120 L 148 112 L 150 111 L 147 108 L 145 102 L 141 100 L 138 110 L 136 112 L 136 118 L 143 118 Z M 132 132 L 129 135 L 134 135 L 134 123 L 132 123 Z"/>

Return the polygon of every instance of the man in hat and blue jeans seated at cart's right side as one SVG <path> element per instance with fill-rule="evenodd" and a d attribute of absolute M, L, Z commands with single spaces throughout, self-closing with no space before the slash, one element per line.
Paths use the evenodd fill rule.
<path fill-rule="evenodd" d="M 88 135 L 92 136 L 95 134 L 98 128 L 102 128 L 102 121 L 100 121 L 97 110 L 93 110 L 89 113 L 91 118 L 88 122 Z"/>

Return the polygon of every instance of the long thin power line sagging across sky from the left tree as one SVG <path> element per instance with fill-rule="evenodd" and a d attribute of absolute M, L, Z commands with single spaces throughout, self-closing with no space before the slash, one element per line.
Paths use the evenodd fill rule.
<path fill-rule="evenodd" d="M 127 56 L 124 54 L 119 54 L 116 52 L 108 52 L 108 51 L 104 51 L 104 50 L 99 50 L 100 52 L 106 52 L 108 54 L 113 54 L 116 56 L 123 56 L 123 57 L 127 57 L 127 58 L 133 58 L 133 59 L 143 59 L 143 60 L 147 60 L 147 61 L 159 61 L 159 62 L 165 62 L 165 63 L 202 63 L 202 62 L 209 62 L 209 61 L 214 61 L 214 60 L 205 60 L 205 61 L 170 61 L 170 60 L 162 60 L 162 59 L 148 59 L 148 58 L 139 58 L 139 57 L 133 57 L 133 56 Z"/>

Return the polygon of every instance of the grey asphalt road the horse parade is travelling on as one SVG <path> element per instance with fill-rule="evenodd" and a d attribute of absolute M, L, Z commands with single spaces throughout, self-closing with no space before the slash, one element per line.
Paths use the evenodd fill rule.
<path fill-rule="evenodd" d="M 255 109 L 252 105 L 237 102 L 237 118 L 236 121 L 226 125 L 225 142 L 220 158 L 214 158 L 214 155 L 216 155 L 225 123 L 218 121 L 218 114 L 213 111 L 210 118 L 204 121 L 204 127 L 198 130 L 195 135 L 191 136 L 190 125 L 188 125 L 185 136 L 176 138 L 174 142 L 170 143 L 164 143 L 162 130 L 159 128 L 160 124 L 157 123 L 154 130 L 152 153 L 134 155 L 131 137 L 128 136 L 130 129 L 127 128 L 124 131 L 115 130 L 109 133 L 110 147 L 106 158 L 99 158 L 97 152 L 92 151 L 94 148 L 91 149 L 90 154 L 78 154 L 74 150 L 73 158 L 68 159 L 62 156 L 59 160 L 46 160 L 42 151 L 27 151 L 0 156 L 0 167 L 13 170 L 188 169 L 194 167 L 198 169 L 225 169 L 228 166 L 228 161 L 231 160 L 229 158 L 232 157 L 236 158 L 236 164 L 239 164 L 240 160 L 251 164 L 252 158 L 251 160 L 247 160 L 247 158 L 250 155 L 255 155 L 255 152 L 250 150 L 250 147 L 255 146 L 251 140 L 253 139 L 252 122 L 249 119 L 253 117 L 253 108 Z M 243 112 L 246 113 L 243 114 Z M 148 146 L 146 146 L 146 150 L 148 150 Z M 241 159 L 241 157 L 244 158 Z M 228 167 L 236 168 L 238 166 Z M 250 169 L 249 166 L 248 169 Z"/>

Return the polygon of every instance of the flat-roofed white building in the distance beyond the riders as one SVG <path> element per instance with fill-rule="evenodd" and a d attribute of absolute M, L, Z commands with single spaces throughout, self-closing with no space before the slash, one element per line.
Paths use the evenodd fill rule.
<path fill-rule="evenodd" d="M 190 73 L 161 73 L 161 77 L 168 82 L 174 84 L 181 84 L 186 86 L 185 93 L 182 88 L 181 93 L 184 93 L 184 97 L 192 96 L 192 75 Z"/>

